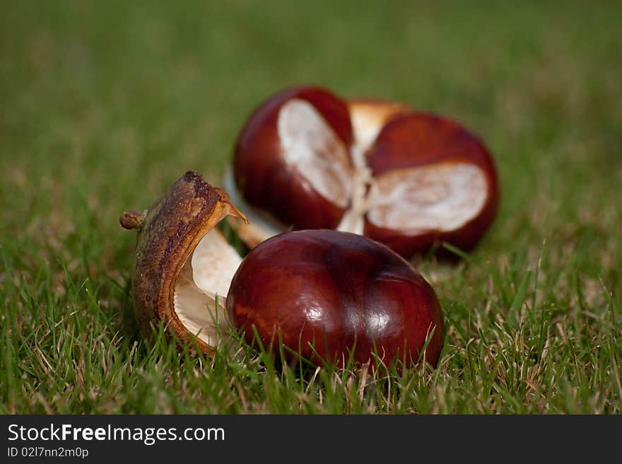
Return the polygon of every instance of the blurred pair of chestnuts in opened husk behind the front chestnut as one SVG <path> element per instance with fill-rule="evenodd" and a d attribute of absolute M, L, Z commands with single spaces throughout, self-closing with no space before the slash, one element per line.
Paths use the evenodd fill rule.
<path fill-rule="evenodd" d="M 498 207 L 486 146 L 462 125 L 403 103 L 345 101 L 288 88 L 240 131 L 225 188 L 253 247 L 288 229 L 334 228 L 406 259 L 447 242 L 476 245 Z"/>

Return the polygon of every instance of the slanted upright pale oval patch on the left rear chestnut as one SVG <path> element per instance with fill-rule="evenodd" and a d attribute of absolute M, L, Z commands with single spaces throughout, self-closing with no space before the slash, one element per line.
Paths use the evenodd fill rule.
<path fill-rule="evenodd" d="M 348 206 L 351 168 L 348 147 L 305 100 L 293 98 L 281 107 L 277 122 L 283 158 L 322 197 Z"/>

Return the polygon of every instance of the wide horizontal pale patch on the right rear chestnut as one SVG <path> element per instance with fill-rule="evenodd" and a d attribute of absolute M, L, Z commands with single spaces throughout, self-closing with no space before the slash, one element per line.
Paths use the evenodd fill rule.
<path fill-rule="evenodd" d="M 486 175 L 471 164 L 392 170 L 372 185 L 368 219 L 407 234 L 454 231 L 481 211 L 487 192 Z"/>

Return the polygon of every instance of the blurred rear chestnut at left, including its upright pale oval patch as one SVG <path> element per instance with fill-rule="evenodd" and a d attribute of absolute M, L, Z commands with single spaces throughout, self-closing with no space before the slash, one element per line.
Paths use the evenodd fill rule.
<path fill-rule="evenodd" d="M 319 87 L 295 87 L 259 105 L 233 158 L 245 202 L 294 228 L 335 228 L 348 207 L 353 141 L 346 103 Z"/>

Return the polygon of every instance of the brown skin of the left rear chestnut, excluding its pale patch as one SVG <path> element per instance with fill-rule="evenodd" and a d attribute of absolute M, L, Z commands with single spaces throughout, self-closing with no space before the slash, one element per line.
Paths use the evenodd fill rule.
<path fill-rule="evenodd" d="M 235 183 L 249 204 L 268 211 L 286 226 L 335 228 L 346 207 L 319 195 L 281 156 L 278 114 L 292 98 L 310 103 L 349 150 L 353 132 L 346 103 L 324 88 L 288 88 L 259 105 L 242 128 L 233 157 Z"/>

